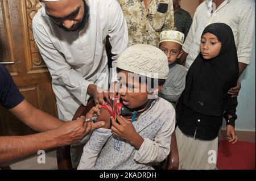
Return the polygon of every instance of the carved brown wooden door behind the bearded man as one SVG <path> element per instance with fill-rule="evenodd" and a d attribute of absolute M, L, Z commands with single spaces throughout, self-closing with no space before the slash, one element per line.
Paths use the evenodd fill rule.
<path fill-rule="evenodd" d="M 32 34 L 32 18 L 39 8 L 39 0 L 0 0 L 0 64 L 28 102 L 57 116 L 51 76 Z M 35 132 L 0 107 L 0 136 L 31 133 Z"/>

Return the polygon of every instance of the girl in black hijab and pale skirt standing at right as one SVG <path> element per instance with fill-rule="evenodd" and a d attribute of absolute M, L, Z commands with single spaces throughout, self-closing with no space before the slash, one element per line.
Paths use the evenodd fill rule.
<path fill-rule="evenodd" d="M 201 36 L 200 51 L 188 70 L 176 108 L 180 169 L 216 167 L 217 137 L 223 117 L 229 142 L 237 141 L 237 98 L 227 93 L 236 86 L 239 73 L 232 29 L 224 23 L 210 24 Z M 209 160 L 210 155 L 213 157 Z"/>

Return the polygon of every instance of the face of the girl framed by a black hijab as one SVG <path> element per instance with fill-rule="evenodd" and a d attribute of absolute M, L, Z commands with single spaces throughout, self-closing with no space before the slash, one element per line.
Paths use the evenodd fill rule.
<path fill-rule="evenodd" d="M 221 42 L 212 33 L 205 33 L 201 37 L 200 51 L 204 59 L 209 60 L 220 54 Z"/>

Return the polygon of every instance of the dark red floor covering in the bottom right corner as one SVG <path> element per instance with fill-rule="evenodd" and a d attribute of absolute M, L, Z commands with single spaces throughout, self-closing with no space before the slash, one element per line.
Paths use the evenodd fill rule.
<path fill-rule="evenodd" d="M 219 170 L 255 170 L 255 143 L 220 141 L 217 168 Z"/>

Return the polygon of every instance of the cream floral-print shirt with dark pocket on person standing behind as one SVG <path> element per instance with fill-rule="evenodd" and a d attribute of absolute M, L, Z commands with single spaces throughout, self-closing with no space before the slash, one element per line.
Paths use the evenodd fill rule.
<path fill-rule="evenodd" d="M 159 45 L 163 30 L 174 29 L 172 0 L 117 0 L 128 26 L 129 45 Z"/>

